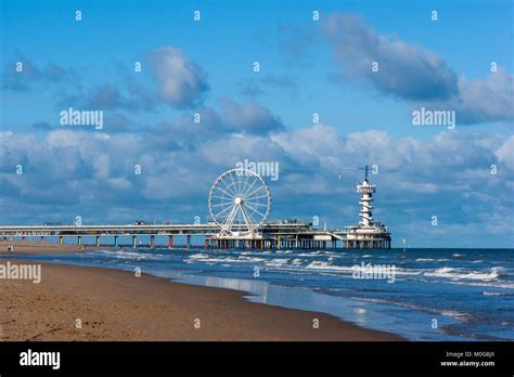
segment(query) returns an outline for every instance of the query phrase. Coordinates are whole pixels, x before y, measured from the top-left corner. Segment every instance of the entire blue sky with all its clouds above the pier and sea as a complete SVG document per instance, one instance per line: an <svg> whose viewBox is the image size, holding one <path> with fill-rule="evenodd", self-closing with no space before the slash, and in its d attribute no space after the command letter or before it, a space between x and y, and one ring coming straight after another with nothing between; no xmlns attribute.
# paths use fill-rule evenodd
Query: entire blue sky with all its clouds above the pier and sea
<svg viewBox="0 0 514 377"><path fill-rule="evenodd" d="M393 246L513 247L513 18L506 0L1 0L0 223L206 221L247 159L279 164L271 220L343 227L363 177L339 168L376 165Z"/></svg>

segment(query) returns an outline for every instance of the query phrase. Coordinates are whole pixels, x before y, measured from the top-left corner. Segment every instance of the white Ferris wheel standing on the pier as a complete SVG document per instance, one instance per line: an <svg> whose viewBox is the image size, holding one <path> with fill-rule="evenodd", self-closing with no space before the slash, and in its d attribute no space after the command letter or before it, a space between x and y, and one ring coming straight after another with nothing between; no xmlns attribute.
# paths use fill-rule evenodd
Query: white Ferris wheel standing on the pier
<svg viewBox="0 0 514 377"><path fill-rule="evenodd" d="M232 169L210 187L209 212L222 236L247 236L257 232L270 214L271 195L262 178L252 170Z"/></svg>

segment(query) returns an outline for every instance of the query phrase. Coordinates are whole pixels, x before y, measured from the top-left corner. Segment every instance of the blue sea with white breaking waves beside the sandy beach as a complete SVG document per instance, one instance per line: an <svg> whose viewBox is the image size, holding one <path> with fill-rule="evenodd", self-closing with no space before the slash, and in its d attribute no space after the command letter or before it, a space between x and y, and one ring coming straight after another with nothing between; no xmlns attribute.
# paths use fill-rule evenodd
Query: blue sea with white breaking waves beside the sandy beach
<svg viewBox="0 0 514 377"><path fill-rule="evenodd" d="M416 341L514 340L514 249L127 248L4 258L140 269Z"/></svg>

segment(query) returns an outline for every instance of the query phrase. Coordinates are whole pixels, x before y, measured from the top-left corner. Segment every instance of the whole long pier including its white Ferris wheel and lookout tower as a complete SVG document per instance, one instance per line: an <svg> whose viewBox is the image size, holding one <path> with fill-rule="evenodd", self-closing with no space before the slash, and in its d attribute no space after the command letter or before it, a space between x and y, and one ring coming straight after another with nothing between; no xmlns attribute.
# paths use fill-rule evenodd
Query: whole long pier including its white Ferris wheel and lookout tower
<svg viewBox="0 0 514 377"><path fill-rule="evenodd" d="M368 166L362 169L365 170L365 178L357 186L362 195L359 202L361 221L344 230L318 229L312 223L297 220L268 221L271 195L264 180L254 171L232 169L218 177L210 188L208 206L213 222L206 224L137 222L126 225L0 225L0 237L39 237L41 243L47 237L54 237L61 244L73 242L79 246L85 246L83 239L89 237L94 239L93 245L97 247L389 249L390 233L387 226L372 217L371 203L376 185L370 183ZM130 243L121 244L121 237L130 239ZM166 237L166 244L157 244L156 237ZM201 237L202 244L192 245L192 237ZM142 244L143 238L147 243ZM110 243L105 244L105 239L110 239Z"/></svg>

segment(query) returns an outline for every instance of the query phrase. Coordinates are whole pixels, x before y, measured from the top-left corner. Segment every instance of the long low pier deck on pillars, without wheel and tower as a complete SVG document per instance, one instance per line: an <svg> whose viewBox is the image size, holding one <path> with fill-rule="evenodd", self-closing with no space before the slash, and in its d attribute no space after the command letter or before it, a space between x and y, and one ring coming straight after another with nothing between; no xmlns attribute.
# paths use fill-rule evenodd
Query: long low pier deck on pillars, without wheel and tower
<svg viewBox="0 0 514 377"><path fill-rule="evenodd" d="M323 249L323 248L389 248L390 238L362 236L354 239L352 233L338 230L318 230L306 222L272 222L262 225L259 234L246 237L220 237L216 224L163 224L163 225L0 225L0 237L8 239L49 237L61 244L75 243L86 246L83 238L94 239L90 245L113 247L167 247L167 248L255 248L255 249ZM157 244L155 237L167 237L166 244ZM192 245L191 237L201 236L203 243ZM130 244L120 244L121 237ZM141 239L150 243L139 245ZM105 240L108 239L110 243ZM180 239L181 243L177 243Z"/></svg>

